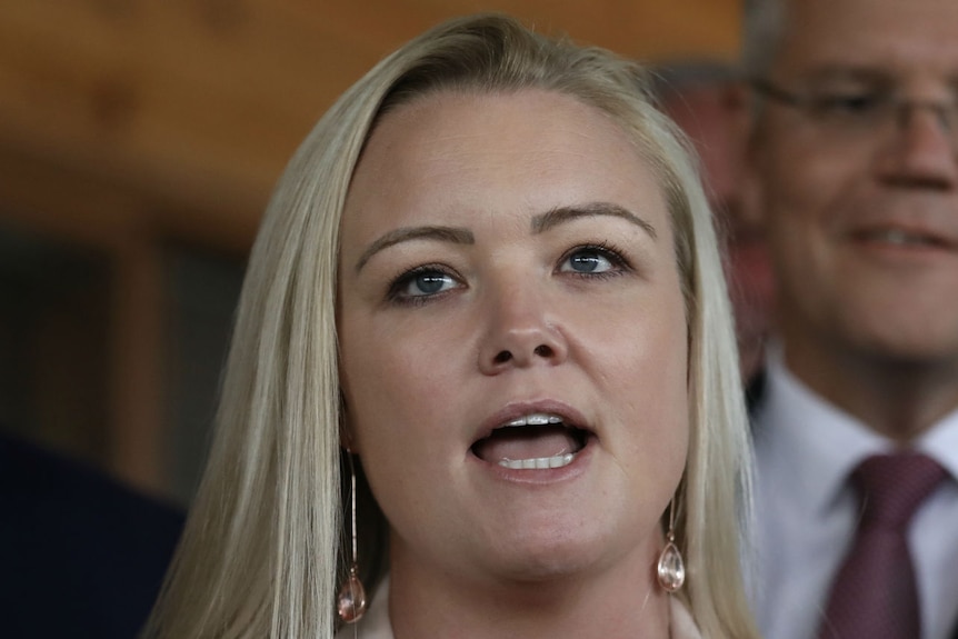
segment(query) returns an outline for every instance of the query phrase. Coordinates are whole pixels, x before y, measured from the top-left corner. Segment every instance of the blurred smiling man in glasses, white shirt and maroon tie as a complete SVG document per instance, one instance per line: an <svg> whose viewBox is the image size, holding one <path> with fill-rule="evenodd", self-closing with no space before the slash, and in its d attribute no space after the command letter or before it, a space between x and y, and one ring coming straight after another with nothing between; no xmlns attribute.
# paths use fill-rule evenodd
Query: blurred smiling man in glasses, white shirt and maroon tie
<svg viewBox="0 0 958 639"><path fill-rule="evenodd" d="M768 639L958 618L958 2L747 2L776 271L756 413Z"/></svg>

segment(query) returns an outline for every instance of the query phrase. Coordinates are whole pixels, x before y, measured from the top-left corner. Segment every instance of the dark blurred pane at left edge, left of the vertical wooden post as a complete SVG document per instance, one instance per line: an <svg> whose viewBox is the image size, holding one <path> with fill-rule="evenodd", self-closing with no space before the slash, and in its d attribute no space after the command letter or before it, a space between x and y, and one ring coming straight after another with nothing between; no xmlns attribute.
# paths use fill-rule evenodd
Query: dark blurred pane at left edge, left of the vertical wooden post
<svg viewBox="0 0 958 639"><path fill-rule="evenodd" d="M111 267L0 221L0 431L108 467Z"/></svg>

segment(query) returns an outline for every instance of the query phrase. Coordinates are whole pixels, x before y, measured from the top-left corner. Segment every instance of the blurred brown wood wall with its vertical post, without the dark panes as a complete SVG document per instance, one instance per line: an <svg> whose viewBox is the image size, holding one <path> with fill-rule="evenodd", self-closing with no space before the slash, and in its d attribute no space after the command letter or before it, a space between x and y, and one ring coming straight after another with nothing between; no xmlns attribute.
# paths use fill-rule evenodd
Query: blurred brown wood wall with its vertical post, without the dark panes
<svg viewBox="0 0 958 639"><path fill-rule="evenodd" d="M299 140L338 93L400 42L447 17L502 10L541 31L639 59L730 58L738 3L0 3L0 232L91 252L107 264L107 292L89 298L106 313L107 353L102 361L77 356L88 358L89 375L104 378L93 385L104 389L104 407L91 408L87 419L100 416L102 436L92 439L102 445L88 457L133 485L169 492L164 247L241 260ZM37 338L47 345L38 353L68 335ZM37 361L48 360L38 355ZM38 403L64 392L62 385L36 383Z"/></svg>

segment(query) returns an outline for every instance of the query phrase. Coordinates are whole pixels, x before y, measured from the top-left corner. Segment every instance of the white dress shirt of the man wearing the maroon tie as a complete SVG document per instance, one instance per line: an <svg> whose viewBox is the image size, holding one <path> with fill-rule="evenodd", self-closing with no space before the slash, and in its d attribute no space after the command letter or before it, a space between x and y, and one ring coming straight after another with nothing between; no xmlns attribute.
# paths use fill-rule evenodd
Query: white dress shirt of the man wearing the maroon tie
<svg viewBox="0 0 958 639"><path fill-rule="evenodd" d="M896 445L815 395L785 368L778 348L770 349L767 376L755 415L754 605L766 639L814 639L854 539L858 499L847 479L865 458ZM949 639L958 623L958 411L914 449L950 475L919 507L908 533L920 639Z"/></svg>

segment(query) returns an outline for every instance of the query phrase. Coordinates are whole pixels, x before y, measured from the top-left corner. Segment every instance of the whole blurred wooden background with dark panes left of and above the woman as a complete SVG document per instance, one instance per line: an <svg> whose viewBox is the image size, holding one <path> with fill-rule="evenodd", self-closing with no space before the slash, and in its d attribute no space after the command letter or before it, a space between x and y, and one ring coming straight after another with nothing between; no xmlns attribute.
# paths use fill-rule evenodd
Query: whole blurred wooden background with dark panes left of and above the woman
<svg viewBox="0 0 958 639"><path fill-rule="evenodd" d="M479 10L650 62L738 49L739 0L0 3L0 430L188 503L286 160L382 56Z"/></svg>

